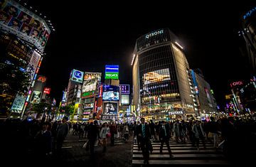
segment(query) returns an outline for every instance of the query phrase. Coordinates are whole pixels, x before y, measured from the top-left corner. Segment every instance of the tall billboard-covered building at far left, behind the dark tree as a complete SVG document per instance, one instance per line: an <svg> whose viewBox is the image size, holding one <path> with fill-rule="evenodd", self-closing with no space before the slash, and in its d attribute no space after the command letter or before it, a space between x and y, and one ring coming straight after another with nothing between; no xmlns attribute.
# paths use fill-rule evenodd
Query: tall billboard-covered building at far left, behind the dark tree
<svg viewBox="0 0 256 167"><path fill-rule="evenodd" d="M49 28L47 21L41 16L13 0L1 1L0 17L0 63L11 64L23 72L30 72L30 91L24 92L24 95L10 95L13 100L9 109L11 114L22 117L53 29Z"/></svg>

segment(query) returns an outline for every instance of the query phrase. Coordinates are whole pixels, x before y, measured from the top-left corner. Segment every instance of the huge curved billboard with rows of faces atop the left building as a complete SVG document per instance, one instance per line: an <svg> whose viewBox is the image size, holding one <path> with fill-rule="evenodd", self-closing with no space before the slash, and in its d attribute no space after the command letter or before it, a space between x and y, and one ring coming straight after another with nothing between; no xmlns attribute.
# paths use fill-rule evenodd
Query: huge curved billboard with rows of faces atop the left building
<svg viewBox="0 0 256 167"><path fill-rule="evenodd" d="M46 21L16 1L3 0L0 3L1 29L33 43L43 53L50 35Z"/></svg>

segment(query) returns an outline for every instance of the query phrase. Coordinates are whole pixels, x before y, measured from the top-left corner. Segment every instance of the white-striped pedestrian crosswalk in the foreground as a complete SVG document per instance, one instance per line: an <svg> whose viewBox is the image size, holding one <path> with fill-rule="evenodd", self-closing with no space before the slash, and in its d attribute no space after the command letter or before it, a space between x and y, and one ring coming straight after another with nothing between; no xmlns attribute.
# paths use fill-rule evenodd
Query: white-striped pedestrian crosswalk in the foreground
<svg viewBox="0 0 256 167"><path fill-rule="evenodd" d="M166 144L163 153L160 154L160 142L152 141L153 152L149 155L149 165L229 165L223 153L213 148L212 142L205 141L205 143L206 148L200 141L198 150L196 146L192 146L191 141L182 143L170 140L171 152L174 155L170 158ZM137 143L133 145L132 164L133 166L144 164L142 151L138 149Z"/></svg>

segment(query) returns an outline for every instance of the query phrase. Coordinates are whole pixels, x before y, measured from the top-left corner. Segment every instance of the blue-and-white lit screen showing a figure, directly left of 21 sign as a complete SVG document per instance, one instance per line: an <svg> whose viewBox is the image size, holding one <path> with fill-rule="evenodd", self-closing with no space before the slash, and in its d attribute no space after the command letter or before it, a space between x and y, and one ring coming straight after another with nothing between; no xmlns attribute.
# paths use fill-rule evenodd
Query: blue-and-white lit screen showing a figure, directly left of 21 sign
<svg viewBox="0 0 256 167"><path fill-rule="evenodd" d="M119 101L119 87L112 85L104 85L102 100Z"/></svg>

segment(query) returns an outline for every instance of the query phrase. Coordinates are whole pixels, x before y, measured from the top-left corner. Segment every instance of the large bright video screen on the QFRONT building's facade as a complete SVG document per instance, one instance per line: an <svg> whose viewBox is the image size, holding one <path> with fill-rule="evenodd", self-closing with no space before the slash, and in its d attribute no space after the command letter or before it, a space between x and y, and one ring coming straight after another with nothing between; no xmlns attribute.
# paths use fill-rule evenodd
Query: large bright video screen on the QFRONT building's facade
<svg viewBox="0 0 256 167"><path fill-rule="evenodd" d="M171 80L169 68L155 70L144 74L144 85L164 80Z"/></svg>

